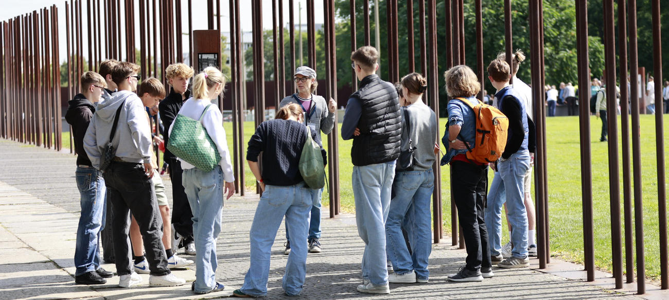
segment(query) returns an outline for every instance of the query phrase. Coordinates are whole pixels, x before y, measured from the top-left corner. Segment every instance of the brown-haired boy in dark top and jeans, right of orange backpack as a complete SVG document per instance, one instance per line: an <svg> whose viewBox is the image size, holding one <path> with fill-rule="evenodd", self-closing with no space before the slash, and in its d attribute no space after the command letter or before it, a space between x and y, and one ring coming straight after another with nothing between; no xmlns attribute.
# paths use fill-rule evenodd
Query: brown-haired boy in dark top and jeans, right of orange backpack
<svg viewBox="0 0 669 300"><path fill-rule="evenodd" d="M490 190L485 208L485 223L490 234L490 256L502 256L501 210L504 203L507 218L512 226L512 253L497 264L500 268L528 267L528 221L524 206L524 177L530 168L529 125L522 96L509 85L510 66L499 58L488 65L488 79L497 92L501 112L508 117L508 139L502 156L491 163L498 170Z"/></svg>

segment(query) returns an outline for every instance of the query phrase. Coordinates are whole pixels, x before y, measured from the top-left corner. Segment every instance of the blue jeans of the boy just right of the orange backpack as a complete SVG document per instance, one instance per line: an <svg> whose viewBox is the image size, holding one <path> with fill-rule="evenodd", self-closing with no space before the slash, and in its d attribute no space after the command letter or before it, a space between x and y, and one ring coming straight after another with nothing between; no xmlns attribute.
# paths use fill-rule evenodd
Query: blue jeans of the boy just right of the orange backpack
<svg viewBox="0 0 669 300"><path fill-rule="evenodd" d="M511 224L512 255L527 258L527 212L524 205L524 176L530 167L527 150L512 154L507 161L497 163L498 172L492 179L485 209L486 228L490 239L490 255L502 250L502 205L506 202L506 215Z"/></svg>

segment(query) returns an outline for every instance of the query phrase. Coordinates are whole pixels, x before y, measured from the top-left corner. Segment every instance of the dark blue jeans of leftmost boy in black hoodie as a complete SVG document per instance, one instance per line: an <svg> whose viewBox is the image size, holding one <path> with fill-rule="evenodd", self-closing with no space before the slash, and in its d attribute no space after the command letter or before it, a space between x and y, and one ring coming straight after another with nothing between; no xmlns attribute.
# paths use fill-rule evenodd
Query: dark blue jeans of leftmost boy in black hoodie
<svg viewBox="0 0 669 300"><path fill-rule="evenodd" d="M75 173L81 195L82 212L77 227L77 243L74 248L75 276L96 271L100 266L100 244L98 236L104 228L106 216L106 187L102 172L94 167L77 167Z"/></svg>

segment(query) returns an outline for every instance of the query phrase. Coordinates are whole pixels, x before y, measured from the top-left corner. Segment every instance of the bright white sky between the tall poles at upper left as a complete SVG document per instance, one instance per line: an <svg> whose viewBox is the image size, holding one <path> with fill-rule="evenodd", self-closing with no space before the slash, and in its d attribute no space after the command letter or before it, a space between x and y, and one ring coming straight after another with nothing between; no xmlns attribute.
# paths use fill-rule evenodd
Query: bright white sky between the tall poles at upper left
<svg viewBox="0 0 669 300"><path fill-rule="evenodd" d="M104 0L100 0L102 3ZM140 0L135 0L135 16L139 17L138 6ZM159 0L160 1L160 0ZM5 1L3 1L5 2ZM65 43L65 2L64 0L23 0L23 1L11 1L11 5L3 5L0 9L0 21L7 21L17 15L23 15L25 13L31 13L32 11L39 11L43 7L50 7L56 5L58 7L58 26L59 26L59 35L61 36L62 42L60 43L60 60L66 60L66 43ZM86 21L86 3L87 0L82 1L82 18L84 22ZM197 29L207 29L207 0L193 0L193 30ZM284 21L288 23L288 1L284 2ZM123 3L123 1L121 1ZM182 19L183 19L183 31L188 30L188 9L187 9L187 0L182 0ZM215 3L215 1L214 1ZM252 29L252 17L251 17L251 1L250 0L241 0L240 1L240 13L242 15L242 31L251 31ZM278 1L277 1L278 3ZM306 23L306 0L294 0L294 9L295 9L295 23L298 23L298 3L302 3L302 23ZM316 11L315 23L323 23L323 14L319 13L323 11L322 1L314 1L314 10ZM263 27L265 29L272 29L272 0L263 0ZM214 9L215 11L215 9ZM278 11L278 9L277 9ZM137 20L138 21L138 20ZM215 21L214 21L215 23ZM82 26L84 33L84 39L86 38L86 23ZM227 0L221 0L221 31L229 31L229 2ZM139 33L138 26L135 26L137 29L136 32L136 48L139 48ZM123 28L121 29L124 30ZM187 49L188 45L188 36L182 35L184 49ZM86 40L82 43L84 45L84 54L88 53L88 42ZM104 41L103 41L104 44ZM104 46L103 46L104 47ZM104 51L103 51L104 52Z"/></svg>

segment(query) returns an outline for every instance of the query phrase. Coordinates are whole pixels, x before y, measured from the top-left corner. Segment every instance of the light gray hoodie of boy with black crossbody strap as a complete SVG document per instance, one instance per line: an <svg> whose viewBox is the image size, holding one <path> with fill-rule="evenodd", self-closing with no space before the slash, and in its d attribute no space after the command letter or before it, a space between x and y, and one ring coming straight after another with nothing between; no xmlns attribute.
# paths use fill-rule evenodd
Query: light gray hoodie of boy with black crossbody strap
<svg viewBox="0 0 669 300"><path fill-rule="evenodd" d="M100 157L109 141L116 109L121 104L124 108L121 108L112 139L116 157L132 163L151 163L151 128L144 104L134 92L122 90L98 104L84 135L84 149L96 169L100 167Z"/></svg>

